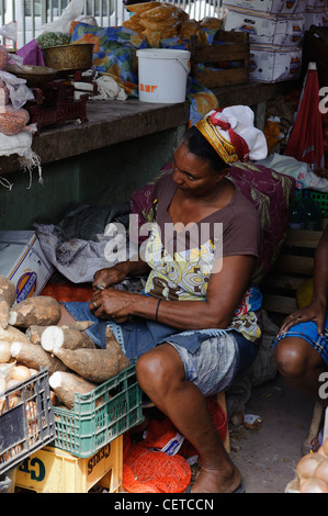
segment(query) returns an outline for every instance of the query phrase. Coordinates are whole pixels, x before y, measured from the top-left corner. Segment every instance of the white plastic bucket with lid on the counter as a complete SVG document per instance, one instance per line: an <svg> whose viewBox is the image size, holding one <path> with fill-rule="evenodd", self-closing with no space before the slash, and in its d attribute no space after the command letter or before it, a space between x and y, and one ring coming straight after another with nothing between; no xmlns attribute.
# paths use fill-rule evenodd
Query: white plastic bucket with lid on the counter
<svg viewBox="0 0 328 516"><path fill-rule="evenodd" d="M189 51L143 48L137 51L137 57L140 101L166 104L185 101Z"/></svg>

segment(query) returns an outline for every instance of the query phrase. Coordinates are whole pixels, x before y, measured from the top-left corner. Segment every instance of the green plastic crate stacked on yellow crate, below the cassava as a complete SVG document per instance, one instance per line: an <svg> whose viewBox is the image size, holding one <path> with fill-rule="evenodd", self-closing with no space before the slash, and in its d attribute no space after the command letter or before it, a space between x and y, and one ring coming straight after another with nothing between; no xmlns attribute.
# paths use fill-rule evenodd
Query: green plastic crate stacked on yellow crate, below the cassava
<svg viewBox="0 0 328 516"><path fill-rule="evenodd" d="M87 394L75 394L71 410L53 407L49 446L22 457L15 485L37 493L118 492L123 475L123 434L143 419L135 367Z"/></svg>

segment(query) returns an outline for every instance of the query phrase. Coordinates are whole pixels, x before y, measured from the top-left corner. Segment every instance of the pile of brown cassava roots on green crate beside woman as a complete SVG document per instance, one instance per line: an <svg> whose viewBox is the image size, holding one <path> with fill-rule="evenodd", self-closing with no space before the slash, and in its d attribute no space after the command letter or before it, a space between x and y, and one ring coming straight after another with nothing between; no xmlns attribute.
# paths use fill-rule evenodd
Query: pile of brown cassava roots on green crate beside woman
<svg viewBox="0 0 328 516"><path fill-rule="evenodd" d="M0 276L0 415L10 408L4 407L4 391L41 367L48 369L54 404L72 408L75 392L90 392L129 366L109 327L106 348L100 349L84 334L93 323L58 325L61 312L55 299L36 295L18 304L15 299L15 285ZM13 394L12 403L19 403L19 390Z"/></svg>

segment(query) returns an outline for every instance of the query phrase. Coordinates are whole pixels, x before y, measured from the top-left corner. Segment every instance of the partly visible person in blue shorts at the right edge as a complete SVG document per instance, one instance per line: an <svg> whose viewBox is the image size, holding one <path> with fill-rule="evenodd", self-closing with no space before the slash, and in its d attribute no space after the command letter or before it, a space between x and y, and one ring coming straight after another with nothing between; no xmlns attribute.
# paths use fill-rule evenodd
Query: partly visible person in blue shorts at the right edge
<svg viewBox="0 0 328 516"><path fill-rule="evenodd" d="M328 226L315 253L313 298L308 306L286 317L275 343L281 375L301 393L328 405L320 396L320 374L328 371Z"/></svg>

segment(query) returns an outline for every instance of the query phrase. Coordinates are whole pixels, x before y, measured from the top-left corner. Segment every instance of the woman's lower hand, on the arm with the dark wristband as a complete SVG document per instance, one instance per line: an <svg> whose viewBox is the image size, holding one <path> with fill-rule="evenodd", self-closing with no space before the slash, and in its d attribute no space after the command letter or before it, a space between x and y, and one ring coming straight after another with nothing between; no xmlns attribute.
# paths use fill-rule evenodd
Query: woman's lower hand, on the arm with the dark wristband
<svg viewBox="0 0 328 516"><path fill-rule="evenodd" d="M99 318L111 317L122 323L131 315L134 295L114 288L97 290L92 295L89 309Z"/></svg>

